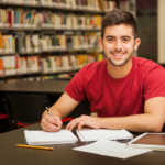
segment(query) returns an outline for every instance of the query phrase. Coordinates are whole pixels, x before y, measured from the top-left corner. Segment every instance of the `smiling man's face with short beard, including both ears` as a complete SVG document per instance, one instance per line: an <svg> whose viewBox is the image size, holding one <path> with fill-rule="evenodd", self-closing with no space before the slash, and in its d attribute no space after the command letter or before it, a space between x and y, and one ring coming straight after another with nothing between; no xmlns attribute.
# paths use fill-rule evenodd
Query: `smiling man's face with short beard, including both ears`
<svg viewBox="0 0 165 165"><path fill-rule="evenodd" d="M133 51L138 50L141 41L140 38L134 41L132 26L120 24L107 26L103 41L100 40L99 43L110 64L120 67L131 58Z"/></svg>

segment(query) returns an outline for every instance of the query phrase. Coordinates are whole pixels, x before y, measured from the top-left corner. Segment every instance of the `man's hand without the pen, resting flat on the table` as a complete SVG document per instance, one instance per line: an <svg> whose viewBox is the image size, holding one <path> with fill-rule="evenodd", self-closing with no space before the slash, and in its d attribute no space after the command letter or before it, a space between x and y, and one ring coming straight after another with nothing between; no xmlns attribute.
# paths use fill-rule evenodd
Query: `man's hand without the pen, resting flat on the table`
<svg viewBox="0 0 165 165"><path fill-rule="evenodd" d="M94 129L100 129L101 128L101 118L81 116L79 118L72 120L67 124L66 130L72 131L74 128L77 128L77 131L79 131L85 125L94 128Z"/></svg>

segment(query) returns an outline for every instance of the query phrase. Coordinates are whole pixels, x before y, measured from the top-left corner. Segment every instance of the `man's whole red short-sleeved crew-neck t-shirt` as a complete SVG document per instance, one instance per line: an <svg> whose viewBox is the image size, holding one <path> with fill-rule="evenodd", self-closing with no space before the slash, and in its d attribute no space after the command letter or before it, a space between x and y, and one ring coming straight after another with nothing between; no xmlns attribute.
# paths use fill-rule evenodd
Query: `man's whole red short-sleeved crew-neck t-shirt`
<svg viewBox="0 0 165 165"><path fill-rule="evenodd" d="M152 61L132 58L133 67L123 78L112 78L103 59L86 65L65 90L77 101L87 97L99 117L143 113L147 99L165 97L165 70Z"/></svg>

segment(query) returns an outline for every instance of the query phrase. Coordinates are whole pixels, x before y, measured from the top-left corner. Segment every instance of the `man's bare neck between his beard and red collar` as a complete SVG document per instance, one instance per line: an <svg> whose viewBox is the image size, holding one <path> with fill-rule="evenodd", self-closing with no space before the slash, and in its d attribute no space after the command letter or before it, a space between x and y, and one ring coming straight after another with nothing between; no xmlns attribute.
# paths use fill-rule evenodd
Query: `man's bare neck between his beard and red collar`
<svg viewBox="0 0 165 165"><path fill-rule="evenodd" d="M122 77L125 77L132 69L132 65L133 65L133 62L132 62L132 57L129 59L129 62L121 66L121 67L117 67L117 66L113 66L109 61L107 61L108 65L107 65L107 69L108 69L108 73L111 77L113 78L122 78Z"/></svg>

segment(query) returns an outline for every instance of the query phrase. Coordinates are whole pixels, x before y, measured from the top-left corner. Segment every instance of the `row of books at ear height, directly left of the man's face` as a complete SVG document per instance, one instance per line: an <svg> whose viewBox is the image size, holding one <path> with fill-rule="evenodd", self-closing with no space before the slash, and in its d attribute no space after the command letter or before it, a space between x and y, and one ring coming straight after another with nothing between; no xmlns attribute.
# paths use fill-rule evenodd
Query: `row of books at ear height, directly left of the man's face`
<svg viewBox="0 0 165 165"><path fill-rule="evenodd" d="M53 51L79 51L98 48L98 33L86 35L41 35L40 34L4 34L0 33L0 54L42 53Z"/></svg>

